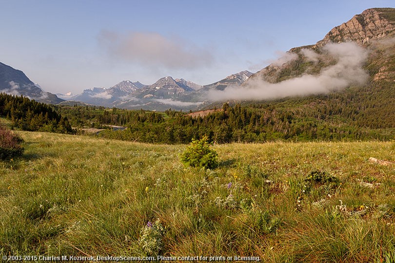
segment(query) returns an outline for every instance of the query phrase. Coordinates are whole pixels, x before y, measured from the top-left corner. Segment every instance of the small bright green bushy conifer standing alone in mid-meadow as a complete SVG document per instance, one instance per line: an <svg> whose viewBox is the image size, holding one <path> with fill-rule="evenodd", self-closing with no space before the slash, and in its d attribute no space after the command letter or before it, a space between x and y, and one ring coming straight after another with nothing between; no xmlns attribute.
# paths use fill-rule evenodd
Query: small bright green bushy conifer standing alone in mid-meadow
<svg viewBox="0 0 395 263"><path fill-rule="evenodd" d="M200 140L192 139L191 144L180 154L181 162L186 166L215 168L218 164L218 153L210 146L207 136Z"/></svg>

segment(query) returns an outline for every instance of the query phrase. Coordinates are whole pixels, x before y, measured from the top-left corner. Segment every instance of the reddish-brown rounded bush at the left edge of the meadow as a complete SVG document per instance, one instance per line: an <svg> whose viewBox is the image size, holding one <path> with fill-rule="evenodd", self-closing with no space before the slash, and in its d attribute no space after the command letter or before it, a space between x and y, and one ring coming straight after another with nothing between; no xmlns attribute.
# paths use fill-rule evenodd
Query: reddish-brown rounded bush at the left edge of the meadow
<svg viewBox="0 0 395 263"><path fill-rule="evenodd" d="M0 125L0 159L5 160L22 155L23 139L18 134Z"/></svg>

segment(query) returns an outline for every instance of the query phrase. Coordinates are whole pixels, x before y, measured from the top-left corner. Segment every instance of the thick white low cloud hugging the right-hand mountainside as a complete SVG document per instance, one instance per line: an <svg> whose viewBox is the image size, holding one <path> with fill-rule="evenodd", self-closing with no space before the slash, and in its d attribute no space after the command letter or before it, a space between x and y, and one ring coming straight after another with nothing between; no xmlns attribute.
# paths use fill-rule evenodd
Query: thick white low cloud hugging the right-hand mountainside
<svg viewBox="0 0 395 263"><path fill-rule="evenodd" d="M301 51L309 61L317 62L319 54L312 50ZM269 83L262 79L249 79L246 86L230 86L223 91L210 91L208 99L220 100L264 100L286 96L302 96L326 94L342 90L351 84L362 85L368 74L362 69L368 52L355 43L327 44L323 52L334 57L337 63L321 70L319 75L305 74L279 83ZM296 54L288 54L280 58L277 64L296 59ZM277 65L275 64L275 65Z"/></svg>

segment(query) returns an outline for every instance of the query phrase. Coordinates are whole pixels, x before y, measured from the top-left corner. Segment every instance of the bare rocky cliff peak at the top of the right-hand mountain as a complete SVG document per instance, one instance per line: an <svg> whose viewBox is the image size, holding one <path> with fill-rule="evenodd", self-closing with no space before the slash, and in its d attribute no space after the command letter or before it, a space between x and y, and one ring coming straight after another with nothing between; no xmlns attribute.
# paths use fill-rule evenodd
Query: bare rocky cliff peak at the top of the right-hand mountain
<svg viewBox="0 0 395 263"><path fill-rule="evenodd" d="M371 40L395 34L395 8L371 8L355 15L349 21L334 27L315 47L329 42L354 41L366 44Z"/></svg>

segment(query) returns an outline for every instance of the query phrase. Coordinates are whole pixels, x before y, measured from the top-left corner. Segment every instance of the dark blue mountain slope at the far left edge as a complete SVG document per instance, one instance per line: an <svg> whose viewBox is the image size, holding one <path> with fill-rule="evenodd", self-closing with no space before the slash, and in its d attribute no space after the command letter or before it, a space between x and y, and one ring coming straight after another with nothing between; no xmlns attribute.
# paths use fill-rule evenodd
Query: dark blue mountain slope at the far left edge
<svg viewBox="0 0 395 263"><path fill-rule="evenodd" d="M0 62L0 92L24 95L39 102L58 104L64 101L57 95L45 92L34 84L22 71Z"/></svg>

